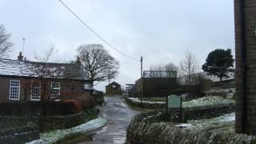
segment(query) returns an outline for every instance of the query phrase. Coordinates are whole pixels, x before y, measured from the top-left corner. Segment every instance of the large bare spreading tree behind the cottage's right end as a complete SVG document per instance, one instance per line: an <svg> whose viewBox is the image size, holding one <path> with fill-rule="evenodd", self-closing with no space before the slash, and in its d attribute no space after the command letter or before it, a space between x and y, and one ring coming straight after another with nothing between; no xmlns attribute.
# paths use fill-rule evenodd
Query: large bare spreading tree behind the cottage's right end
<svg viewBox="0 0 256 144"><path fill-rule="evenodd" d="M92 86L94 82L104 82L118 74L119 62L100 44L78 46L78 57Z"/></svg>

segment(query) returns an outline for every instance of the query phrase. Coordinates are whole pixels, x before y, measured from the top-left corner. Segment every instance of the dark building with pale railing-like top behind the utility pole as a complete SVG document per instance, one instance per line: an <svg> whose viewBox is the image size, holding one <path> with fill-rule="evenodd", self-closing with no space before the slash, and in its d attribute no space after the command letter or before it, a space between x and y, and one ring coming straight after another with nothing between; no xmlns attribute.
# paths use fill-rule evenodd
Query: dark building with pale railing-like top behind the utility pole
<svg viewBox="0 0 256 144"><path fill-rule="evenodd" d="M177 72L145 70L135 86L137 96L143 90L143 97L166 97L178 88Z"/></svg>

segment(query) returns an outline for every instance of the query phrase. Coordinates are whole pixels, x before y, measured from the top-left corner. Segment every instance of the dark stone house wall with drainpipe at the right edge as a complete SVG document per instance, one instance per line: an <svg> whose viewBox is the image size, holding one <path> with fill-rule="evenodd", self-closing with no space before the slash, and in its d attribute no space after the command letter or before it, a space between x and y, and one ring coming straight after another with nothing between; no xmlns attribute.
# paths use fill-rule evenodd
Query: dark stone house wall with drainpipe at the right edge
<svg viewBox="0 0 256 144"><path fill-rule="evenodd" d="M243 2L243 5L241 2ZM244 12L243 17L241 16L241 11ZM256 1L234 0L234 22L236 47L236 130L238 133L256 134ZM242 26L242 22L244 22L244 26ZM245 39L243 39L243 36ZM245 52L245 59L242 59L242 50ZM242 93L243 70L246 70L246 95ZM246 102L244 106L243 101Z"/></svg>

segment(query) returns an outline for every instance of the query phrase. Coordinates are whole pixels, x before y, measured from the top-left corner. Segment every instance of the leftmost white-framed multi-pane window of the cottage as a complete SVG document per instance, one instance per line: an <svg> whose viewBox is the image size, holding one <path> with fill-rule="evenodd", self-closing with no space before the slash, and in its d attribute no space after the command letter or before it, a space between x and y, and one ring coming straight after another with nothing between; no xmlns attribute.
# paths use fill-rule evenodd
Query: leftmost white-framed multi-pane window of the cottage
<svg viewBox="0 0 256 144"><path fill-rule="evenodd" d="M20 81L10 80L10 100L19 100L20 95Z"/></svg>

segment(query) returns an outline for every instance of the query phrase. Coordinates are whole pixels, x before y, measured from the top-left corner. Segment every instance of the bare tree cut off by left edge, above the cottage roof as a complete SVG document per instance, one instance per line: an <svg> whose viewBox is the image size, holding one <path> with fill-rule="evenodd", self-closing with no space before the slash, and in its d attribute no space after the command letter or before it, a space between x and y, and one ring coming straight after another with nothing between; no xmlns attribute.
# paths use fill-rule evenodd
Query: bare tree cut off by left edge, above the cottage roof
<svg viewBox="0 0 256 144"><path fill-rule="evenodd" d="M0 25L0 58L6 58L12 46L13 43L10 42L10 34L6 33L5 27Z"/></svg>

